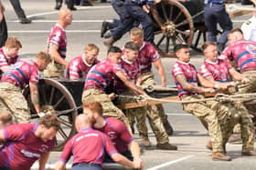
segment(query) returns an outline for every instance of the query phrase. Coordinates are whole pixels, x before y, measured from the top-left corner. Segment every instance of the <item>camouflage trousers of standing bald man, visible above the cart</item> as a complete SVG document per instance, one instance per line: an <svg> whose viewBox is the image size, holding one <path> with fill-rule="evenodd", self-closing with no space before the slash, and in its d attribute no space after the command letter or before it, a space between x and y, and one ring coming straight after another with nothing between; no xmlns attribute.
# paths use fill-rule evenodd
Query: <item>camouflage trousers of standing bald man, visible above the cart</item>
<svg viewBox="0 0 256 170"><path fill-rule="evenodd" d="M45 78L63 78L65 67L56 62L51 62L44 70L43 75Z"/></svg>

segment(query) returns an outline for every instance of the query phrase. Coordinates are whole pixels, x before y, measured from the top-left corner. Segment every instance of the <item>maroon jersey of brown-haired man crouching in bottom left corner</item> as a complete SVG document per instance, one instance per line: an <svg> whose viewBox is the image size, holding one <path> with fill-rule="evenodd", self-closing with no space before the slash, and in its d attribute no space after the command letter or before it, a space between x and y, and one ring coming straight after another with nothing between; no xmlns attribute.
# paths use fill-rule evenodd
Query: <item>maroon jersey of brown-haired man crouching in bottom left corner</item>
<svg viewBox="0 0 256 170"><path fill-rule="evenodd" d="M56 138L43 142L35 135L37 126L38 124L15 124L5 127L5 145L0 149L0 167L29 170L41 155L53 149Z"/></svg>

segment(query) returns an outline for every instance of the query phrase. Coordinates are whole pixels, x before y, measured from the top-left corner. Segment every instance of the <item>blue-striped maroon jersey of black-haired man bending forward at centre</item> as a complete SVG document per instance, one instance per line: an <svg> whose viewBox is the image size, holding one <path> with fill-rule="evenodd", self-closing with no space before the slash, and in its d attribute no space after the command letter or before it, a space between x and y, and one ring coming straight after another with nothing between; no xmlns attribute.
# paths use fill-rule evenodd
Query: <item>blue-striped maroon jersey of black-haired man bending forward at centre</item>
<svg viewBox="0 0 256 170"><path fill-rule="evenodd" d="M112 85L116 72L122 72L121 66L113 63L108 58L92 66L85 80L84 90L99 88L105 91L109 85Z"/></svg>

